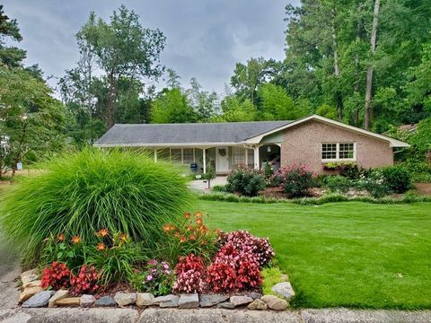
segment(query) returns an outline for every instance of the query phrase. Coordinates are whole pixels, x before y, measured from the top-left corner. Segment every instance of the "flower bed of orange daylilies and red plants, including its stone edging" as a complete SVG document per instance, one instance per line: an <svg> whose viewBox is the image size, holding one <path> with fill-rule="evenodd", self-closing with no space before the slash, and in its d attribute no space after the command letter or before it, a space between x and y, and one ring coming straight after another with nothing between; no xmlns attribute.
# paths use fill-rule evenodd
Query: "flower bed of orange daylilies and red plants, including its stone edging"
<svg viewBox="0 0 431 323"><path fill-rule="evenodd" d="M107 229L94 233L92 245L79 236L50 237L42 250L45 265L22 274L22 307L286 310L295 295L290 283L280 289L290 289L287 295L261 293L261 270L275 256L268 239L248 231L209 231L203 217L186 213L183 221L164 224L164 249L152 255L159 258L145 259L148 250ZM173 258L161 258L167 255Z"/></svg>

